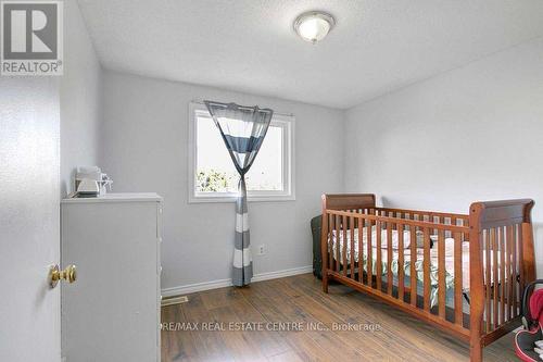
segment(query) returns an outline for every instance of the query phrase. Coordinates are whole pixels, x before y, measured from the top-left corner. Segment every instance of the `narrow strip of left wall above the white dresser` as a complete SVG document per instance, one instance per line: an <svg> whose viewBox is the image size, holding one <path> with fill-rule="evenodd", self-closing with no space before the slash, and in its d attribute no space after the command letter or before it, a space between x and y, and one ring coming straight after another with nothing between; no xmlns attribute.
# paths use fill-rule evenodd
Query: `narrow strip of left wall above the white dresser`
<svg viewBox="0 0 543 362"><path fill-rule="evenodd" d="M101 72L77 1L64 1L64 75L60 90L62 196L73 191L74 167L97 164Z"/></svg>

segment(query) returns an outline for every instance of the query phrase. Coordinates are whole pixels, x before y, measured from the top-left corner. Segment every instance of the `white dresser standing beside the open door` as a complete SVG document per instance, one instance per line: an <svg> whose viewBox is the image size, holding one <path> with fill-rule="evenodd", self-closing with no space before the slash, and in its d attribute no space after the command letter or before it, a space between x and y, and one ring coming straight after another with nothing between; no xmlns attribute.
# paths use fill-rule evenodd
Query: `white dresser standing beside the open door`
<svg viewBox="0 0 543 362"><path fill-rule="evenodd" d="M110 194L61 205L62 355L66 362L160 361L162 198Z"/></svg>

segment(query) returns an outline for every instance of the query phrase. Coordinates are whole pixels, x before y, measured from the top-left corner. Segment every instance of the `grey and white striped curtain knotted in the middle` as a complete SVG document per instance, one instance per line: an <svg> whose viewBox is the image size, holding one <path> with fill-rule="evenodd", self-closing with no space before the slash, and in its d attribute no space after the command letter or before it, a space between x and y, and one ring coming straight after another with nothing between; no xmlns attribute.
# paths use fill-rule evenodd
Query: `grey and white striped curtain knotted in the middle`
<svg viewBox="0 0 543 362"><path fill-rule="evenodd" d="M236 201L236 241L233 249L235 286L244 286L253 277L247 208L245 174L264 141L274 111L236 103L204 101L215 122L233 165L240 175ZM279 154L277 157L280 157Z"/></svg>

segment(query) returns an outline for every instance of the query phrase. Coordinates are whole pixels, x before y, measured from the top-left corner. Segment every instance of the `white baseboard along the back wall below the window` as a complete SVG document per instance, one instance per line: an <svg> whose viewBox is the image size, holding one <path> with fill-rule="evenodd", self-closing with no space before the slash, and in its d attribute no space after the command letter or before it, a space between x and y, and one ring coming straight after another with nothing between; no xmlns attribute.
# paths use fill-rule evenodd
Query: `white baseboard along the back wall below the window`
<svg viewBox="0 0 543 362"><path fill-rule="evenodd" d="M313 265L293 267L293 269L287 269L283 271L255 274L255 275L253 275L253 278L251 279L251 282L255 283L255 282L263 282L263 280L269 280L269 279L277 279L277 278L283 278L286 276L305 274L305 273L311 273L311 272L313 272ZM172 287L172 288L162 289L162 298L182 296L182 295L188 295L191 292L211 290L211 289L217 289L217 288L224 288L224 287L231 287L231 286L232 286L232 279L219 279L219 280L189 284L189 285L184 285L184 286L179 286L179 287Z"/></svg>

